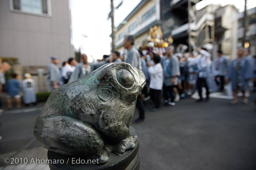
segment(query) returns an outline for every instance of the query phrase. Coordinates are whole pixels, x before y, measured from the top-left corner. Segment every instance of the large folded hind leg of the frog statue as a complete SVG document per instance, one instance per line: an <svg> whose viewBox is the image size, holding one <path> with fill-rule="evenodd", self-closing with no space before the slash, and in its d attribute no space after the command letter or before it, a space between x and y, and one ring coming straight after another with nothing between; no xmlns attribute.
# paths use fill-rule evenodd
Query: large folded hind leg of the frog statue
<svg viewBox="0 0 256 170"><path fill-rule="evenodd" d="M101 163L108 161L99 133L79 119L70 116L38 119L34 134L48 150L64 155L99 157Z"/></svg>

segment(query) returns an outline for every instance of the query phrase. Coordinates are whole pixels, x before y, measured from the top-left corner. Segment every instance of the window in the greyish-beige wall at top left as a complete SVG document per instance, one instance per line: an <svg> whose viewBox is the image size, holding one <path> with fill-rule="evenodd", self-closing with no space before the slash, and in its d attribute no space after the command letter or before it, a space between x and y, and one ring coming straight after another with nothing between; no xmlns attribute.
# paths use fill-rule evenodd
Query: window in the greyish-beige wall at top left
<svg viewBox="0 0 256 170"><path fill-rule="evenodd" d="M12 9L31 14L49 14L49 0L11 0Z"/></svg>

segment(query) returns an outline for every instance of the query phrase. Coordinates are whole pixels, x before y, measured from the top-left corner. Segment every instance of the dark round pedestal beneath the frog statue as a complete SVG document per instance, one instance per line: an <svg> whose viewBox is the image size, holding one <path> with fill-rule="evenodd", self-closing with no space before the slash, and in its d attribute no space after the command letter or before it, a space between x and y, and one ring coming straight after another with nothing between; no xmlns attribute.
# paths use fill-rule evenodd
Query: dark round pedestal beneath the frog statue
<svg viewBox="0 0 256 170"><path fill-rule="evenodd" d="M138 136L134 127L130 127L130 133L131 135ZM121 156L111 153L108 162L102 165L87 164L87 159L83 157L73 158L72 156L63 156L52 151L48 151L48 159L52 161L52 164L51 162L49 163L51 170L139 170L139 140L136 142L136 147L133 150L125 151ZM54 160L59 160L59 162L54 163Z"/></svg>

